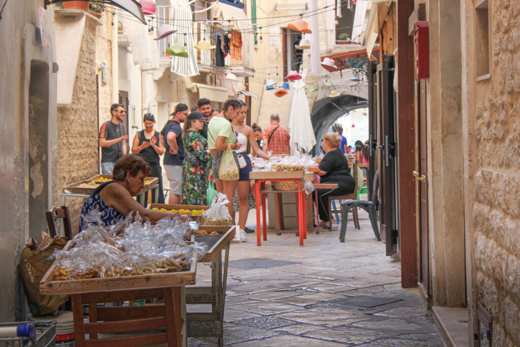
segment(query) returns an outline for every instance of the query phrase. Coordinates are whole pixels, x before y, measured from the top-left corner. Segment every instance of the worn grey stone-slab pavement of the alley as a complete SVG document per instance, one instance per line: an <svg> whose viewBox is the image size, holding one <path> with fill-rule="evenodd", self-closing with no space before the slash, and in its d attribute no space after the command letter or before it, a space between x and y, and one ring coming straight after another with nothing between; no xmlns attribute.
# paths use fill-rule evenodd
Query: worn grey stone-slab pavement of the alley
<svg viewBox="0 0 520 347"><path fill-rule="evenodd" d="M339 226L308 233L305 246L293 233L256 246L233 243L230 251L224 344L230 346L444 346L415 289L400 286L400 262L385 256L368 214L352 219L345 243ZM254 211L248 226L256 229ZM209 264L197 267L197 284L210 281ZM197 305L188 305L190 307ZM188 346L216 346L216 339L188 339Z"/></svg>

